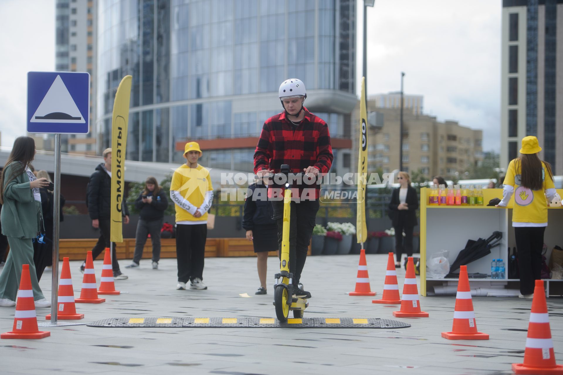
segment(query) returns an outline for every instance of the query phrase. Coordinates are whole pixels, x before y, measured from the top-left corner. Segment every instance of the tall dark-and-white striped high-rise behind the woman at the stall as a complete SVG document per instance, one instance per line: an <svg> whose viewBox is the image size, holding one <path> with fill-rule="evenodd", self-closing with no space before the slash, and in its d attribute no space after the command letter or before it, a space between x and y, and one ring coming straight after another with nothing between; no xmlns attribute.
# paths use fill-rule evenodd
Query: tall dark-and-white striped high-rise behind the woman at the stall
<svg viewBox="0 0 563 375"><path fill-rule="evenodd" d="M501 166L519 156L524 136L535 135L540 158L561 175L563 2L503 0L502 6Z"/></svg>

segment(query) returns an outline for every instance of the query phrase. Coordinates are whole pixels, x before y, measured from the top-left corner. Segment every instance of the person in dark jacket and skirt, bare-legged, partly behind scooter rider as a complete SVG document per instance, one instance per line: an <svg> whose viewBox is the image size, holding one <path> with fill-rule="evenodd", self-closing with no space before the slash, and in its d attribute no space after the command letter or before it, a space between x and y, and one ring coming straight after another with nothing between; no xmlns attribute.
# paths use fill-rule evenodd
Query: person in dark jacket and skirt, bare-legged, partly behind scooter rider
<svg viewBox="0 0 563 375"><path fill-rule="evenodd" d="M272 219L274 209L268 200L267 187L263 181L259 180L248 188L248 196L244 200L243 228L246 230L247 240L252 241L254 253L258 257L260 288L255 294L267 294L268 252L278 249L278 227Z"/></svg>

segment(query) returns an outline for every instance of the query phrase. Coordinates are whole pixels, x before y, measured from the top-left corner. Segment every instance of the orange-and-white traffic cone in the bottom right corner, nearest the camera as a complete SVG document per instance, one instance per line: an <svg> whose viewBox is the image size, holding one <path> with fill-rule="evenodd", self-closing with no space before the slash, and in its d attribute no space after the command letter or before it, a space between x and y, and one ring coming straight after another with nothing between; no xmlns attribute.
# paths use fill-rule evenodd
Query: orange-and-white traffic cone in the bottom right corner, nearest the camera
<svg viewBox="0 0 563 375"><path fill-rule="evenodd" d="M563 374L563 365L555 363L542 280L535 280L524 363L513 363L512 371L516 374Z"/></svg>

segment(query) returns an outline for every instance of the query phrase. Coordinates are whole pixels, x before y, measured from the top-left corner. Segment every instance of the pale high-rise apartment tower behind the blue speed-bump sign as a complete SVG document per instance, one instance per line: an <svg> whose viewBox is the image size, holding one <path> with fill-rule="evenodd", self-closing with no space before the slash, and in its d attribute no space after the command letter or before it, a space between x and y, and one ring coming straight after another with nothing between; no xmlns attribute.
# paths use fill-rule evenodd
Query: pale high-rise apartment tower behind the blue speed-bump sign
<svg viewBox="0 0 563 375"><path fill-rule="evenodd" d="M90 73L90 133L61 136L61 151L96 155L96 1L56 0L55 69ZM43 147L54 147L53 136ZM52 151L48 149L47 151Z"/></svg>

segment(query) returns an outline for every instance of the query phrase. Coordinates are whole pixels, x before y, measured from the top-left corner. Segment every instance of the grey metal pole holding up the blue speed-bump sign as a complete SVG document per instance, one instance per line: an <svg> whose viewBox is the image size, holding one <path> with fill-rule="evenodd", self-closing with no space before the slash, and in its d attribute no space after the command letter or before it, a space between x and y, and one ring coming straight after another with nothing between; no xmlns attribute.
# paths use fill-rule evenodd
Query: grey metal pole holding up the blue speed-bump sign
<svg viewBox="0 0 563 375"><path fill-rule="evenodd" d="M59 224L61 196L61 135L55 134L55 191L53 192L53 270L51 281L51 324L57 324L59 294Z"/></svg>

